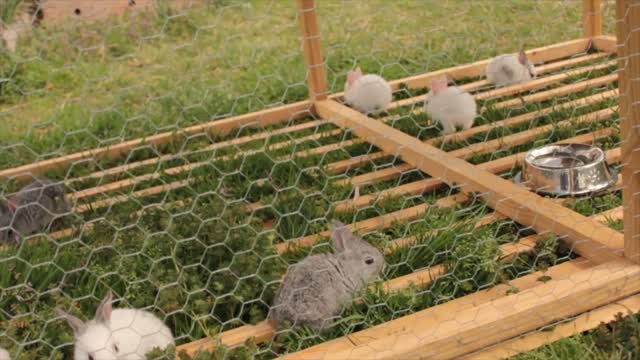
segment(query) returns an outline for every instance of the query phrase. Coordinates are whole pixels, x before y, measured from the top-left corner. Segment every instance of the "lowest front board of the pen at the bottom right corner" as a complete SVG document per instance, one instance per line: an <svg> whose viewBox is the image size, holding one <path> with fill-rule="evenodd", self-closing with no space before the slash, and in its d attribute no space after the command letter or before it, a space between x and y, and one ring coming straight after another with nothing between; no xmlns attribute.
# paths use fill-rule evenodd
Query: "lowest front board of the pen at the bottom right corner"
<svg viewBox="0 0 640 360"><path fill-rule="evenodd" d="M534 350L545 344L595 329L602 323L616 319L619 313L640 312L640 295L633 295L615 303L593 309L575 318L562 320L545 330L535 331L496 346L461 357L464 360L503 359Z"/></svg>

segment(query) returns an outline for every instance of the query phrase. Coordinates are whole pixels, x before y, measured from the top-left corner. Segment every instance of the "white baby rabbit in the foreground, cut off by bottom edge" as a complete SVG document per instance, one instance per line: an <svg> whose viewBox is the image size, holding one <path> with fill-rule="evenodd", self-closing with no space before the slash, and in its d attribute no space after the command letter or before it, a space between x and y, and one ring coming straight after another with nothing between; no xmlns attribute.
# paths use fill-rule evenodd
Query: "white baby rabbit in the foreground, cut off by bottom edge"
<svg viewBox="0 0 640 360"><path fill-rule="evenodd" d="M143 310L112 310L112 299L109 291L95 318L86 323L55 309L75 333L75 360L146 359L151 350L175 344L171 330L160 319Z"/></svg>

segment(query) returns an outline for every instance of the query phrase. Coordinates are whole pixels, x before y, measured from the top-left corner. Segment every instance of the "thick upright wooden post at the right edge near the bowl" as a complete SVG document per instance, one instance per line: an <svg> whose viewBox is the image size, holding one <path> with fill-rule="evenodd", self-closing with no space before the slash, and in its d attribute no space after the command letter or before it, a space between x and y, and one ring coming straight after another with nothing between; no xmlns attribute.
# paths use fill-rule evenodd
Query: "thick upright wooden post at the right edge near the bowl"
<svg viewBox="0 0 640 360"><path fill-rule="evenodd" d="M640 263L640 1L618 0L616 19L624 254Z"/></svg>

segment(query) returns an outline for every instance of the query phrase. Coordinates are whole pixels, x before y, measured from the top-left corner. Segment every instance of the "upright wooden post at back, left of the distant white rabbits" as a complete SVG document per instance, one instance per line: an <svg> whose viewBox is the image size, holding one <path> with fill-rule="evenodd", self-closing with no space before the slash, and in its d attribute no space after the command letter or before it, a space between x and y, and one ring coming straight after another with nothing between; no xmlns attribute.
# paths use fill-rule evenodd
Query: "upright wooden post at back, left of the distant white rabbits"
<svg viewBox="0 0 640 360"><path fill-rule="evenodd" d="M312 101L327 98L327 76L320 48L320 30L316 16L315 0L297 0L298 19L302 32L304 63L307 67L309 98Z"/></svg>

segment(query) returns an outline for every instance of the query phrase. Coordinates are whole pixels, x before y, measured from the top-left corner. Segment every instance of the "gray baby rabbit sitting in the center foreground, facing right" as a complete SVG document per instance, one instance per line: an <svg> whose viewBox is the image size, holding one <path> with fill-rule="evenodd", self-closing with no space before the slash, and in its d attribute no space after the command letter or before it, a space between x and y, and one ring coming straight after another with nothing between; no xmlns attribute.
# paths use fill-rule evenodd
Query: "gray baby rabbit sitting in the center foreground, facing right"
<svg viewBox="0 0 640 360"><path fill-rule="evenodd" d="M323 330L382 271L384 257L378 249L341 222L332 225L336 252L309 256L287 271L269 314L276 325L289 321Z"/></svg>

